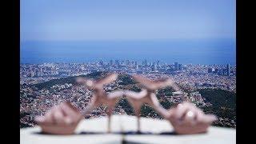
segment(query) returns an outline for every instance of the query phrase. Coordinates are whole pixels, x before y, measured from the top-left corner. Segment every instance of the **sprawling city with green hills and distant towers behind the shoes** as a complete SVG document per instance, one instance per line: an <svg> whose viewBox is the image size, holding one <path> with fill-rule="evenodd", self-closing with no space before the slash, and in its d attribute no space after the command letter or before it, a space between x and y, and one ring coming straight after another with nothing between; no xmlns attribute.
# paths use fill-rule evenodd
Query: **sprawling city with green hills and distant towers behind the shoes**
<svg viewBox="0 0 256 144"><path fill-rule="evenodd" d="M75 106L82 110L90 102L92 92L86 89L85 86L75 85L70 79L81 75L90 76L90 78L100 78L106 73L117 73L121 75L117 81L104 87L106 92L127 89L140 90L140 86L130 80L130 75L132 74L142 74L151 79L173 78L178 86L182 87L186 96L182 98L178 95L178 92L170 88L157 90L156 95L165 108L169 108L173 104L182 101L194 102L206 113L218 113L218 122L215 122L214 125L236 127L235 65L166 63L160 62L159 60L153 62L143 60L142 62L138 62L130 59L99 60L97 62L84 63L51 62L21 64L20 126L35 126L33 122L34 116L45 114L50 107L58 105L58 103L63 101L73 102ZM223 94L225 98L230 97L233 99L226 98L224 104L219 104L218 106L213 101L213 98L210 98L211 94L216 101L218 100L217 96L222 97ZM230 106L230 101L234 101L234 106ZM223 103L223 100L220 102ZM114 114L132 114L131 108L127 105L125 98L122 98L115 107ZM142 116L161 118L149 106L143 106L142 109ZM226 114L230 114L230 116L226 116ZM106 107L101 106L86 118L101 117L104 115L106 115Z"/></svg>

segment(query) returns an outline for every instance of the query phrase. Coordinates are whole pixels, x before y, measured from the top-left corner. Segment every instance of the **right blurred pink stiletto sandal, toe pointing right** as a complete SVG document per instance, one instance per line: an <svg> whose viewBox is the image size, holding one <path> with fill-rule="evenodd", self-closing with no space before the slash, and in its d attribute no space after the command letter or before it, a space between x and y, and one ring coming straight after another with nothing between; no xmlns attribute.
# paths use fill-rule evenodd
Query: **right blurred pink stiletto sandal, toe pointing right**
<svg viewBox="0 0 256 144"><path fill-rule="evenodd" d="M135 81L140 82L142 86L146 87L146 90L142 90L139 93L132 91L126 91L125 93L131 105L134 106L135 114L138 117L138 131L140 130L138 114L143 103L152 106L163 118L166 118L174 126L177 134L204 133L211 123L217 120L216 116L213 114L204 114L202 110L190 102L182 102L178 106L170 108L170 110L165 110L158 102L154 92L166 86L172 86L174 90L180 90L172 79L151 81L149 78L144 78L140 75L134 75L133 78Z"/></svg>

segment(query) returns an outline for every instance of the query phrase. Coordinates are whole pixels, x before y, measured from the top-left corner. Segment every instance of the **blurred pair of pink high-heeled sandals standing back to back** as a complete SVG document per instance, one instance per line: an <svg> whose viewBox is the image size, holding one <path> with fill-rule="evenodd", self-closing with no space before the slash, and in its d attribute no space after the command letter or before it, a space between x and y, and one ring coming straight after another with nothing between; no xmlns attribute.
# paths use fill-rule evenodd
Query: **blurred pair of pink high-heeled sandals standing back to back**
<svg viewBox="0 0 256 144"><path fill-rule="evenodd" d="M174 90L180 90L171 78L164 80L152 81L141 75L133 75L135 81L139 82L144 89L140 92L130 90L114 91L106 93L103 86L114 82L118 78L118 74L108 74L105 78L94 81L87 78L78 78L78 84L85 85L86 88L93 90L93 98L82 112L72 106L70 102L62 102L58 106L54 106L44 116L36 117L35 122L42 127L42 132L47 134L74 134L78 122L80 122L86 114L90 114L92 110L98 106L107 106L108 129L110 132L110 116L114 110L114 106L122 96L126 96L128 102L134 108L135 115L138 119L138 132L140 132L140 109L143 104L152 106L163 118L168 120L173 126L177 134L197 134L206 132L207 128L217 118L211 114L204 114L202 110L189 102L179 104L170 110L166 110L158 102L155 96L155 90L171 86Z"/></svg>

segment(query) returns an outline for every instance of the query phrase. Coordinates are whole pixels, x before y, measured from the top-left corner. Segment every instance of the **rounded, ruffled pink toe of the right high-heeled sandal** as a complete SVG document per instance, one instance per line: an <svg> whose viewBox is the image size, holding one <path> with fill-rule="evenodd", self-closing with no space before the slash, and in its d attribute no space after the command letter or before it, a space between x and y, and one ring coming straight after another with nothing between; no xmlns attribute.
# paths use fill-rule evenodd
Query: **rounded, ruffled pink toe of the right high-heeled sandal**
<svg viewBox="0 0 256 144"><path fill-rule="evenodd" d="M171 108L168 120L174 126L177 134L198 134L207 131L207 128L217 118L213 114L204 114L202 110L190 102L183 102Z"/></svg>

